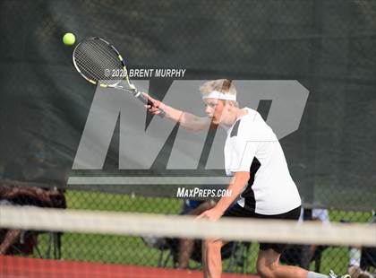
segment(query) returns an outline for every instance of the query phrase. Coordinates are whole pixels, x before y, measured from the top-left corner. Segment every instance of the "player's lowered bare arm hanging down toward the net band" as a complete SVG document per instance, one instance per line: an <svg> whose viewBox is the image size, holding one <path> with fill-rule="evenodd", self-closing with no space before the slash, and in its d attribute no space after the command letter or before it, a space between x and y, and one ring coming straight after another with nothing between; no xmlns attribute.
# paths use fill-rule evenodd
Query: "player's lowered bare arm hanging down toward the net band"
<svg viewBox="0 0 376 278"><path fill-rule="evenodd" d="M229 196L221 197L215 207L201 213L198 218L207 218L213 221L218 220L223 213L226 212L226 209L230 206L230 204L233 204L237 196L241 194L249 179L250 172L235 172L234 178L227 187L227 190L230 191L231 194Z"/></svg>

